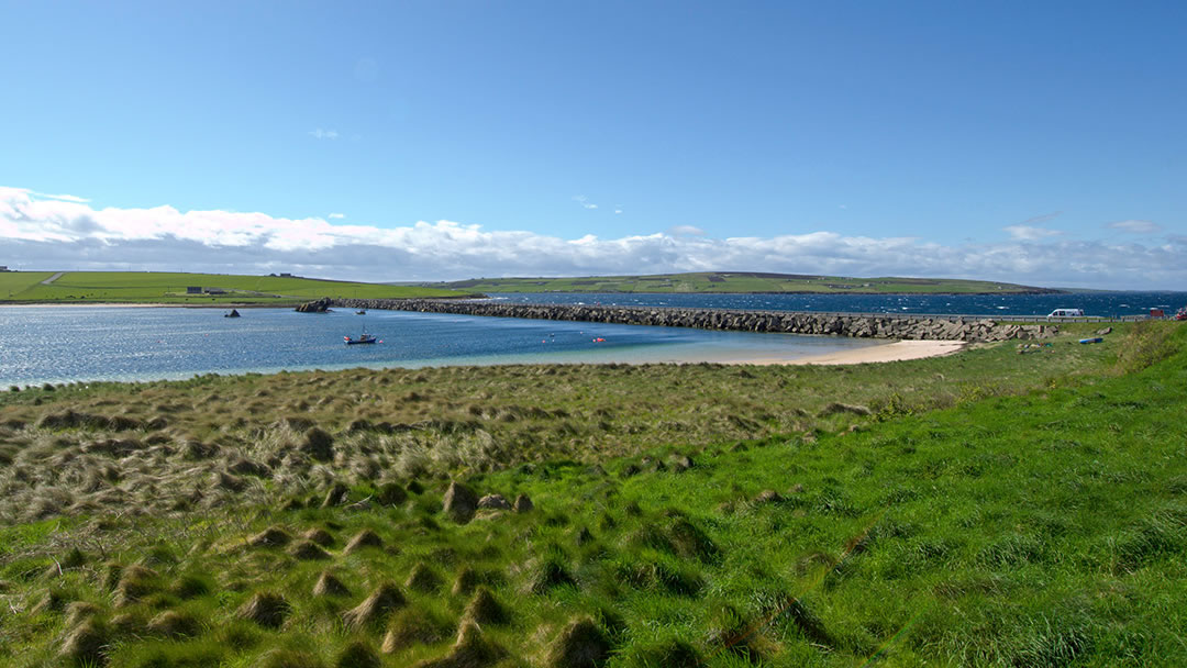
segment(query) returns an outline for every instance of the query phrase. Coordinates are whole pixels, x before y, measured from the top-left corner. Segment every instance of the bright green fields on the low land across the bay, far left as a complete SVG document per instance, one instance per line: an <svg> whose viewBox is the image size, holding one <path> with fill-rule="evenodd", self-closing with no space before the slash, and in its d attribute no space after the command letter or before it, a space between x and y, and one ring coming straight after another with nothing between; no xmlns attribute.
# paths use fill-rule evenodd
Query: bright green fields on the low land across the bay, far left
<svg viewBox="0 0 1187 668"><path fill-rule="evenodd" d="M65 272L49 285L46 272L0 273L0 299L14 303L293 304L322 297L461 297L468 293L381 284L324 281L290 276L241 276L159 272ZM186 294L186 287L223 294ZM4 297L7 295L7 297Z"/></svg>

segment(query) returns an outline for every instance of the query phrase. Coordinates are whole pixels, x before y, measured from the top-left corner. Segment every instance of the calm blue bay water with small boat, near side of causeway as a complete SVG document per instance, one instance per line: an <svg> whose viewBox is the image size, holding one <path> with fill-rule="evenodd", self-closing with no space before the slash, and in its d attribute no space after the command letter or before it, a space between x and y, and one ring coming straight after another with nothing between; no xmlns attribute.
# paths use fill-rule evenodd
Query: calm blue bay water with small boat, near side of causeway
<svg viewBox="0 0 1187 668"><path fill-rule="evenodd" d="M680 327L349 310L0 307L0 384L281 369L794 358L876 342ZM344 345L366 325L382 343ZM604 342L594 342L603 338Z"/></svg>

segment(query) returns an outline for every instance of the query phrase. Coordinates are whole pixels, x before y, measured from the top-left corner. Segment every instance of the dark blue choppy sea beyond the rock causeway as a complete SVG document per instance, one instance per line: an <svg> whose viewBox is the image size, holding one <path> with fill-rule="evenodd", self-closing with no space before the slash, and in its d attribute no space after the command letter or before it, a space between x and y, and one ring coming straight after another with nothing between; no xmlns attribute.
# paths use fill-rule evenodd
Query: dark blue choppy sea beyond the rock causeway
<svg viewBox="0 0 1187 668"><path fill-rule="evenodd" d="M844 311L857 313L945 313L1046 316L1055 308L1084 308L1087 316L1142 316L1150 308L1173 312L1187 305L1187 292L1079 292L1071 294L622 294L519 293L496 299L528 304L610 304L749 308L760 311Z"/></svg>

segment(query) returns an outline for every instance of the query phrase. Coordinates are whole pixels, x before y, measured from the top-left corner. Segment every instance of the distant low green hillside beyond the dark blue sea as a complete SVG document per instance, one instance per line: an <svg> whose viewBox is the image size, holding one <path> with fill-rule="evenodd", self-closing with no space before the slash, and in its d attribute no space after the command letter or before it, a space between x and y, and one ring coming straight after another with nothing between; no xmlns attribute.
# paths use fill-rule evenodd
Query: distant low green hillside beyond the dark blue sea
<svg viewBox="0 0 1187 668"><path fill-rule="evenodd" d="M728 292L728 293L1058 293L1062 291L994 281L817 276L761 272L698 272L643 276L509 278L419 284L471 292Z"/></svg>

